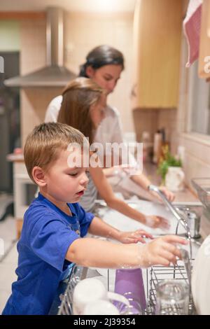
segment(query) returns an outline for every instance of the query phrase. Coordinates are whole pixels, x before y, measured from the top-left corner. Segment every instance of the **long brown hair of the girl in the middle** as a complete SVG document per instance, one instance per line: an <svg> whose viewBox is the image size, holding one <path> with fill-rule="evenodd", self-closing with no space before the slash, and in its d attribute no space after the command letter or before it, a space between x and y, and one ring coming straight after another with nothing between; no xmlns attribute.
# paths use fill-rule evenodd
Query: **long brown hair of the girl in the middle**
<svg viewBox="0 0 210 329"><path fill-rule="evenodd" d="M62 92L62 106L57 122L66 123L80 130L85 137L89 137L89 142L92 144L94 123L90 116L90 106L99 102L104 93L104 90L91 79L72 80Z"/></svg>

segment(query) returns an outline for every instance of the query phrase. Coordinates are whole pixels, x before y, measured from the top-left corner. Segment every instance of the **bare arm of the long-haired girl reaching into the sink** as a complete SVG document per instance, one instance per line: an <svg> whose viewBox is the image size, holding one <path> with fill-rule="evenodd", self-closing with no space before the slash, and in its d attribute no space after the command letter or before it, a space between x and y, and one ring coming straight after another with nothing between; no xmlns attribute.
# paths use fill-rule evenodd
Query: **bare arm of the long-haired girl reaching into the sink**
<svg viewBox="0 0 210 329"><path fill-rule="evenodd" d="M145 216L141 212L130 207L123 200L118 199L118 197L114 195L111 185L109 184L109 181L107 181L102 168L90 167L90 174L92 176L92 180L94 181L94 185L99 191L99 194L106 201L106 204L110 208L115 209L120 213L124 214L125 216L130 217L135 221L138 221L150 227L168 228L168 223L164 218L160 216Z"/></svg>

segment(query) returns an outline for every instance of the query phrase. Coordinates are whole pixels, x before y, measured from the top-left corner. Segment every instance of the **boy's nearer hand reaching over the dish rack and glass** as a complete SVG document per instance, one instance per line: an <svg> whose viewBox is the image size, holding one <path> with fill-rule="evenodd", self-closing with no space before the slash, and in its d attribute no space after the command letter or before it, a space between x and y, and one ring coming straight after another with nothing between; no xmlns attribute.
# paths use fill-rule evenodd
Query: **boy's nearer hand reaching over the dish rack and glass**
<svg viewBox="0 0 210 329"><path fill-rule="evenodd" d="M176 264L176 258L181 259L181 251L176 244L188 244L188 241L177 235L165 235L165 237L154 239L146 246L139 246L139 260L141 263L143 260L145 267L168 266L171 262Z"/></svg>

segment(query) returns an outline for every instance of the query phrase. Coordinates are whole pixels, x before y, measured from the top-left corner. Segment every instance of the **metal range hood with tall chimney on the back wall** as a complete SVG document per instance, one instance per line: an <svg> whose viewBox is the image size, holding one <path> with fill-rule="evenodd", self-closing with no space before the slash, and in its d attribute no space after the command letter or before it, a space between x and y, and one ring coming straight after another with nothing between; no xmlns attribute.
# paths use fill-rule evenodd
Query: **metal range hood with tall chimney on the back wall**
<svg viewBox="0 0 210 329"><path fill-rule="evenodd" d="M4 80L8 87L64 87L76 74L64 67L64 13L61 8L47 8L46 66L25 76Z"/></svg>

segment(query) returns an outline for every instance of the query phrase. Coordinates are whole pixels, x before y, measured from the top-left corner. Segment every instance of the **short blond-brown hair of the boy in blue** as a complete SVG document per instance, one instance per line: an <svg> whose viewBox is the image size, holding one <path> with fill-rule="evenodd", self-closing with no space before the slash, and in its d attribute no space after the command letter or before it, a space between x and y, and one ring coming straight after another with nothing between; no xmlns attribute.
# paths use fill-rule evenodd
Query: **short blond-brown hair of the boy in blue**
<svg viewBox="0 0 210 329"><path fill-rule="evenodd" d="M34 167L47 170L57 160L60 151L66 150L70 143L77 143L83 148L84 138L81 132L64 123L42 123L36 126L27 137L24 148L25 165L31 180L34 181Z"/></svg>

